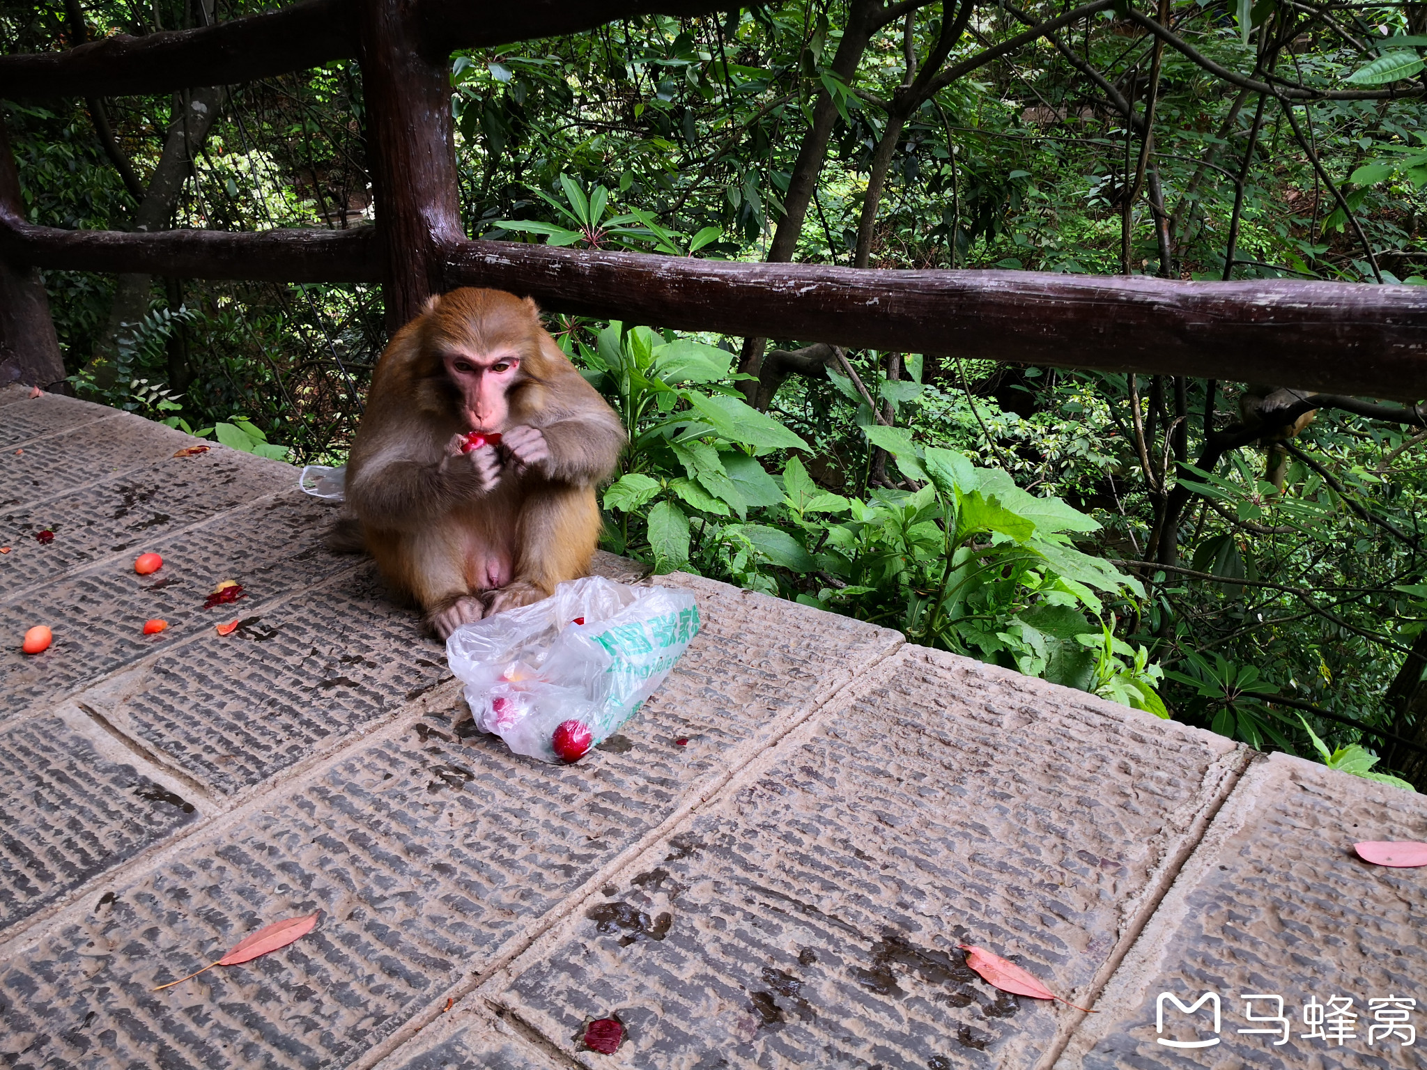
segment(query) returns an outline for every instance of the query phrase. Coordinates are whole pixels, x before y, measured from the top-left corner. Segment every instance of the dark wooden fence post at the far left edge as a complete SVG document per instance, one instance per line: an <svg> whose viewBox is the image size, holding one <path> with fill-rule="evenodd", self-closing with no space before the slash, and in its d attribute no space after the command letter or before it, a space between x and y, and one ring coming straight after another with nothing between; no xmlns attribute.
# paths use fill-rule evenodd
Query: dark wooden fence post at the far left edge
<svg viewBox="0 0 1427 1070"><path fill-rule="evenodd" d="M24 220L20 174L0 114L0 215ZM19 375L16 375L19 372ZM20 382L54 389L64 382L64 357L50 318L39 268L0 260L0 385Z"/></svg>

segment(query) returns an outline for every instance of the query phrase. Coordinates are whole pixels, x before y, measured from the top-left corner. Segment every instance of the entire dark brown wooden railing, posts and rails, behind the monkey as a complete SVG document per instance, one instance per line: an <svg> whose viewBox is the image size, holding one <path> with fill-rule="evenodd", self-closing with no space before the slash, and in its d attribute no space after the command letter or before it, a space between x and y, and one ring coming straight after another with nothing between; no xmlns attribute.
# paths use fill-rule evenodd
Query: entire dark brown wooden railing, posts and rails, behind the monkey
<svg viewBox="0 0 1427 1070"><path fill-rule="evenodd" d="M469 241L457 205L450 53L705 0L304 0L198 30L0 57L0 96L164 93L357 56L377 225L350 231L64 231L24 221L0 126L0 350L29 382L63 377L36 268L381 282L390 330L457 285L552 311L684 330L1193 375L1417 401L1427 287L1182 282L1030 271L742 264ZM0 360L7 357L0 351ZM59 370L59 371L56 371Z"/></svg>

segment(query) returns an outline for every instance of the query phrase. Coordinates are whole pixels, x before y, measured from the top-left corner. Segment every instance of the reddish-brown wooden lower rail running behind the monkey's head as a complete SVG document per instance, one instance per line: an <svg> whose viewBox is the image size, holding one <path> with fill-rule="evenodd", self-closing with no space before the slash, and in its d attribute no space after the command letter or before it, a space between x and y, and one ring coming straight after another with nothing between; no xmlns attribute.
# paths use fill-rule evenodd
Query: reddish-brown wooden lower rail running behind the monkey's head
<svg viewBox="0 0 1427 1070"><path fill-rule="evenodd" d="M440 245L445 288L498 287L549 311L899 352L1427 397L1427 287L856 270L508 241ZM73 271L290 282L374 282L384 263L372 227L121 234L13 217L0 217L0 254Z"/></svg>

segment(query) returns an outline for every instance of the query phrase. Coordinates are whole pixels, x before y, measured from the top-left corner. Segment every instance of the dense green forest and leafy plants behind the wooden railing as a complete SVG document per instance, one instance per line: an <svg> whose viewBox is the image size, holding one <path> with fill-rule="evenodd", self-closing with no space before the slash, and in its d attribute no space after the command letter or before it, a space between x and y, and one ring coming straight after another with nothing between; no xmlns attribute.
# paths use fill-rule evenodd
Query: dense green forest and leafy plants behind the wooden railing
<svg viewBox="0 0 1427 1070"><path fill-rule="evenodd" d="M6 53L244 0L3 0ZM1427 284L1427 4L789 0L452 57L474 238ZM30 221L372 224L355 61L4 101ZM368 285L46 272L80 397L340 464ZM631 434L605 545L1427 789L1427 414L551 317ZM59 384L53 384L59 387Z"/></svg>

